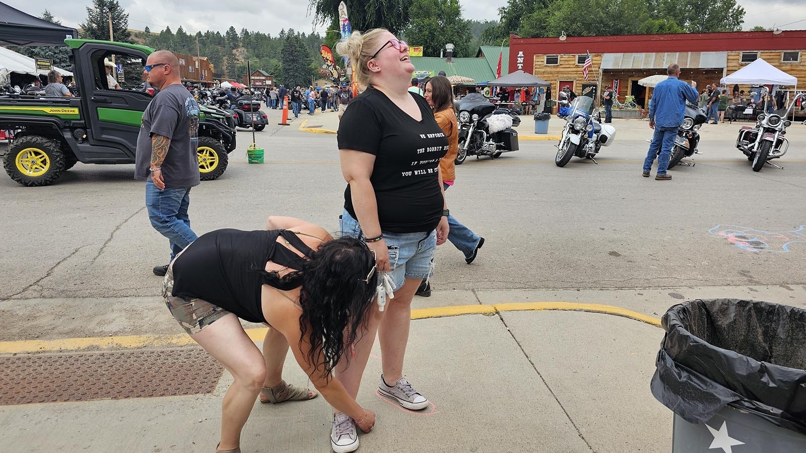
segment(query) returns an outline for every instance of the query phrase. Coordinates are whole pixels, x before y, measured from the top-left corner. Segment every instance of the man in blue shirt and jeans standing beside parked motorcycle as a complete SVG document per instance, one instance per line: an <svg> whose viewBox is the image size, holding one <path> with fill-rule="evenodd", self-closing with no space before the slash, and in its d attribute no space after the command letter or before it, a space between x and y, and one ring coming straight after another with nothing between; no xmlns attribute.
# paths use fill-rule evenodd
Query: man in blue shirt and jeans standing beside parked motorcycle
<svg viewBox="0 0 806 453"><path fill-rule="evenodd" d="M680 77L679 64L669 64L666 73L669 78L655 86L650 102L650 127L654 129L654 135L652 143L650 143L650 150L646 153L642 173L643 177L650 177L652 163L660 150L658 173L655 175L655 179L658 181L671 180L671 175L667 175L666 170L669 168L671 147L674 146L677 131L683 124L686 101L693 104L697 102L696 89L678 78Z"/></svg>

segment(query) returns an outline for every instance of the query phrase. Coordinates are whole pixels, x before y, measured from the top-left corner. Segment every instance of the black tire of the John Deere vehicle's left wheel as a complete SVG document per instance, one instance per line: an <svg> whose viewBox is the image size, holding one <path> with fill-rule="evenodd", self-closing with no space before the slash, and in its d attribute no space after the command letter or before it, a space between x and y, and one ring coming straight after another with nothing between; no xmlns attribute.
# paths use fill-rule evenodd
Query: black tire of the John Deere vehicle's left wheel
<svg viewBox="0 0 806 453"><path fill-rule="evenodd" d="M48 169L42 174L31 176L21 172L17 166L17 156L23 151L34 148L44 153L48 159ZM52 185L64 172L64 154L61 152L59 143L56 140L48 139L41 135L26 135L15 139L9 147L6 156L3 158L3 168L14 181L27 187L39 187L42 185Z"/></svg>

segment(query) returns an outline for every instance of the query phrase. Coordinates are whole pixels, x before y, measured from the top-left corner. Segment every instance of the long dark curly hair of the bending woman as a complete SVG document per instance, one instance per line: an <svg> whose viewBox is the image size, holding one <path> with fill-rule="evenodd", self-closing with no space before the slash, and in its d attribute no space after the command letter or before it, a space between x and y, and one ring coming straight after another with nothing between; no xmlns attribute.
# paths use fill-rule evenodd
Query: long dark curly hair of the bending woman
<svg viewBox="0 0 806 453"><path fill-rule="evenodd" d="M308 335L307 359L330 379L347 345L366 330L368 308L375 300L378 272L367 244L351 237L322 243L301 269L278 277L265 272L264 281L277 289L300 288L300 331ZM300 344L302 340L300 340Z"/></svg>

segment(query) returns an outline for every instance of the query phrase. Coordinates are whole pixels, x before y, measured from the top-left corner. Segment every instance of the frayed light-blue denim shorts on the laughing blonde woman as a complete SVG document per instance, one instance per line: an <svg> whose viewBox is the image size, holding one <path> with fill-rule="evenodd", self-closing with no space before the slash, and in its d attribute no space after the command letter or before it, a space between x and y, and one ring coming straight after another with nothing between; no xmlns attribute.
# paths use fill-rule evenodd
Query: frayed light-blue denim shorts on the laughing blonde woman
<svg viewBox="0 0 806 453"><path fill-rule="evenodd" d="M364 239L358 221L347 210L342 213L342 236ZM434 275L434 251L437 249L435 230L417 233L390 233L383 231L389 249L389 267L395 291L401 289L407 278L427 279Z"/></svg>

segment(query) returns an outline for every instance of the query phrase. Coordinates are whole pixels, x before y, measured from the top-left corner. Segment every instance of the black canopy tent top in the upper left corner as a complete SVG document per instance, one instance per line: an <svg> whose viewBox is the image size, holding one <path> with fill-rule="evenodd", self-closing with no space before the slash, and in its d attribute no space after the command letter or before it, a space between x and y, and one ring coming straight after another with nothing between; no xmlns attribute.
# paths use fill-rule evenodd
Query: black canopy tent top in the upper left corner
<svg viewBox="0 0 806 453"><path fill-rule="evenodd" d="M77 37L75 28L49 23L0 2L2 46L63 46L64 39Z"/></svg>

